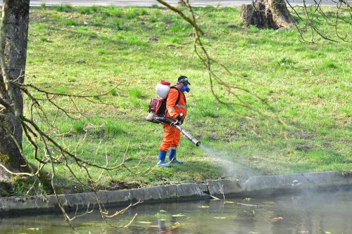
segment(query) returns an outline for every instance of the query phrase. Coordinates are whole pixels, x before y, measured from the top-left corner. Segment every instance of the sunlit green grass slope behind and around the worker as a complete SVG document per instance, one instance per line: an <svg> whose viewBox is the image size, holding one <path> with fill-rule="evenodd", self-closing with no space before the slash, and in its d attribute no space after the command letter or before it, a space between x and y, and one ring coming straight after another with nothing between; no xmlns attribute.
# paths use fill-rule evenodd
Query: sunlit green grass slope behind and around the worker
<svg viewBox="0 0 352 234"><path fill-rule="evenodd" d="M212 9L194 11L202 15ZM89 168L93 178L101 176L97 185L102 187L111 181L153 186L221 178L228 170L219 161L222 157L258 174L351 171L351 45L322 40L302 44L295 30L242 27L239 12L239 8L219 8L200 21L209 55L235 75L229 76L215 63L213 70L225 82L243 88L229 93L213 83L220 100L235 103L225 105L211 93L208 72L193 51L191 27L177 14L157 6L31 8L26 76L35 76L35 85L56 93L107 92L101 99L111 104L99 105L96 98L94 103L76 100L84 117L72 120L63 113L56 116L54 107L43 103L49 119L56 118L56 129L49 130L44 122L40 126L96 164L112 167L125 155L126 166L135 167L131 171L120 167L101 176L100 169ZM351 27L340 30L352 34ZM151 37L158 41L149 41ZM177 157L185 164L154 168L163 129L144 117L150 98L156 96L156 84L175 83L181 74L191 79L184 128L212 152L221 153L209 155L182 138ZM68 98L55 101L75 109ZM30 144L23 145L34 163ZM73 171L87 181L82 168L76 165ZM56 172L69 188L73 176L61 166Z"/></svg>

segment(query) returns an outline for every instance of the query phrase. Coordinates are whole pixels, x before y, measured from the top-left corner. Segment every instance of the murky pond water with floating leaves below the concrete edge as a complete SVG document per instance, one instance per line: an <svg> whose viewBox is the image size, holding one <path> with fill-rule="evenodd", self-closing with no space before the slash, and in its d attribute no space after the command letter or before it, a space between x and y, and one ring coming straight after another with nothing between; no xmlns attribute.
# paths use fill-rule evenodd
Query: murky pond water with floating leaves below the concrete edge
<svg viewBox="0 0 352 234"><path fill-rule="evenodd" d="M116 210L111 208L110 212ZM272 198L139 204L112 219L103 220L99 212L93 212L73 223L75 230L59 213L0 216L0 233L349 234L352 233L352 190Z"/></svg>

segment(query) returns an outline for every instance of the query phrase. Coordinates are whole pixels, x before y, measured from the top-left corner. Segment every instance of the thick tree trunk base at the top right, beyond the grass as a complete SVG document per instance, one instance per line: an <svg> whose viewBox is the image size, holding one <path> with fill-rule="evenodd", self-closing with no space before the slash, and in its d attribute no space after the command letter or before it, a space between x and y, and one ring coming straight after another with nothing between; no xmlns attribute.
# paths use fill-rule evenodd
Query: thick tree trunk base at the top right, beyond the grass
<svg viewBox="0 0 352 234"><path fill-rule="evenodd" d="M255 0L243 4L241 18L246 25L270 27L275 30L292 27L292 18L284 0Z"/></svg>

